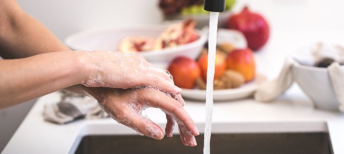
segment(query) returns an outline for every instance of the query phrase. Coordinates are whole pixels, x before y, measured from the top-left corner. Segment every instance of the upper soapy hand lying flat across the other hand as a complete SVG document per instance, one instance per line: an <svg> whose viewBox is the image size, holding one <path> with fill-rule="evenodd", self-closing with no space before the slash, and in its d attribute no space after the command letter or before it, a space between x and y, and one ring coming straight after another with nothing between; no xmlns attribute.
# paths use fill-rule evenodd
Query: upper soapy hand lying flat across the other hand
<svg viewBox="0 0 344 154"><path fill-rule="evenodd" d="M142 55L112 51L83 51L92 66L82 82L87 87L127 89L152 85L170 93L180 93L167 70L153 67Z"/></svg>

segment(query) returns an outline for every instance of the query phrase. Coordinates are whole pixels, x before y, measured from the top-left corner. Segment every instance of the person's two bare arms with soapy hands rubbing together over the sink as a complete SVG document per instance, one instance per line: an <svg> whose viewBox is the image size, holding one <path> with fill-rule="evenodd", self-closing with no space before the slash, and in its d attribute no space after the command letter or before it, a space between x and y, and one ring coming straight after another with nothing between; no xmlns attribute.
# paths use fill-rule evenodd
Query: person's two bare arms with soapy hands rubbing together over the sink
<svg viewBox="0 0 344 154"><path fill-rule="evenodd" d="M181 140L195 146L199 134L186 113L181 89L164 70L156 69L142 56L106 51L70 51L46 27L26 14L14 0L0 0L0 109L50 92L67 89L97 99L115 120L135 113L130 105L150 105L166 112L166 133L172 136L174 118L179 119ZM132 87L151 85L155 90ZM96 88L98 87L98 88ZM108 88L99 88L108 87ZM113 88L119 88L114 92ZM126 90L124 90L126 89ZM179 94L171 99L161 90ZM136 98L131 100L130 98ZM118 110L119 112L116 112ZM129 111L129 112L126 112ZM136 113L136 115L139 115ZM144 117L124 123L146 136L162 139L163 131ZM155 128L152 133L151 128Z"/></svg>

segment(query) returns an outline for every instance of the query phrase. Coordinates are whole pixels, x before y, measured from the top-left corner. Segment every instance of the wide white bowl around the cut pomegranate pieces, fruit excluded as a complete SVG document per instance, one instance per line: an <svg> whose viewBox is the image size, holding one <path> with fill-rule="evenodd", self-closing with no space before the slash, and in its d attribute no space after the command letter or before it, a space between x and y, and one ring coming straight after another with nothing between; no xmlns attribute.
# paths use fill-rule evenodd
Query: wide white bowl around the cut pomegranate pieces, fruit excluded
<svg viewBox="0 0 344 154"><path fill-rule="evenodd" d="M86 30L66 37L65 44L72 50L117 51L119 42L126 36L148 36L156 38L168 25L135 26ZM196 29L198 40L156 51L138 52L150 63L169 63L176 56L184 55L196 59L207 40L206 34Z"/></svg>

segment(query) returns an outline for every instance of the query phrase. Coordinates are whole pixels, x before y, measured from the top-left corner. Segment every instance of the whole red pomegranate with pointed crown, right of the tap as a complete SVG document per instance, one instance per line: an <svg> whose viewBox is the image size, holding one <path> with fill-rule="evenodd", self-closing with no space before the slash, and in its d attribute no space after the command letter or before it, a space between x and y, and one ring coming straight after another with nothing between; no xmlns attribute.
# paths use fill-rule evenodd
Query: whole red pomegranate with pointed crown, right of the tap
<svg viewBox="0 0 344 154"><path fill-rule="evenodd" d="M227 28L241 31L247 40L247 46L258 50L269 38L269 25L265 18L258 13L251 12L246 6L238 13L228 18Z"/></svg>

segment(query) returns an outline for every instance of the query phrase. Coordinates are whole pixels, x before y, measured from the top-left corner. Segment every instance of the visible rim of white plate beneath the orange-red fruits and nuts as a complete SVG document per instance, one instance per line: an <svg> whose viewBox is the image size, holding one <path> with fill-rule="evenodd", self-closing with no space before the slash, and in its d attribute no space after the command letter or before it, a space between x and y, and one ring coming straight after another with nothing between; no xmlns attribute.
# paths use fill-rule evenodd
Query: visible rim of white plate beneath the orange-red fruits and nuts
<svg viewBox="0 0 344 154"><path fill-rule="evenodd" d="M266 76L263 74L257 74L256 78L253 81L249 83L245 83L239 88L214 90L213 100L214 101L228 101L228 100L236 100L236 99L243 99L243 98L251 97L254 91L257 89L257 87L264 81L266 81ZM183 89L181 94L184 99L205 101L206 90Z"/></svg>

